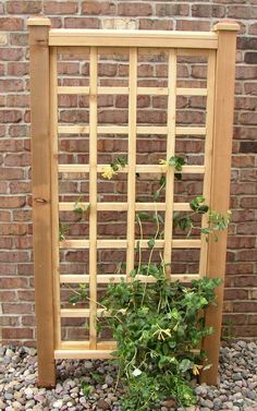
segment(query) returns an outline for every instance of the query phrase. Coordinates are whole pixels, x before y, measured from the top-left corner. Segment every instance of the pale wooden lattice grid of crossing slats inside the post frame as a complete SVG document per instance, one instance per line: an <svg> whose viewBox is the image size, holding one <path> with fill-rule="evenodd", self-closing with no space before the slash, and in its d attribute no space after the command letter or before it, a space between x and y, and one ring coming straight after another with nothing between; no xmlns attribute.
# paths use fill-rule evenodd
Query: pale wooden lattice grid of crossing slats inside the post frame
<svg viewBox="0 0 257 411"><path fill-rule="evenodd" d="M205 160L204 165L188 165L184 166L182 173L203 174L204 176L204 192L207 204L210 198L210 170L211 170L211 153L212 153L212 112L213 112L213 89L215 89L215 50L196 50L196 49L180 49L169 48L164 49L168 55L168 85L167 87L138 87L137 86L137 65L138 65L138 49L130 47L128 51L128 86L99 86L98 85L98 55L97 47L90 47L89 52L89 85L88 86L58 86L57 76L57 55L58 49L51 49L51 84L54 84L52 89L52 113L58 110L58 95L86 95L89 98L89 124L70 124L58 123L57 114L52 118L52 130L54 141L54 154L58 158L58 134L87 134L89 135L89 162L88 164L59 164L56 172L65 173L87 173L89 174L89 202L82 203L84 208L90 206L89 209L89 239L72 239L60 242L61 249L69 250L89 250L89 273L87 275L61 274L59 275L59 255L56 253L56 342L57 351L56 358L63 358L69 355L69 351L64 350L83 350L77 351L76 355L90 356L95 354L100 358L109 358L110 351L113 350L112 341L98 341L96 330L96 316L100 316L101 309L97 307L97 290L101 283L108 283L110 279L119 282L121 278L128 278L130 271L135 265L135 247L137 240L135 238L135 213L143 210L162 210L164 211L164 238L157 240L157 249L163 249L163 258L166 263L171 262L172 249L198 249L199 271L198 274L176 274L171 273L168 266L167 271L171 280L191 281L193 278L203 277L206 274L207 265L207 243L204 237L200 239L173 239L172 238L172 220L173 211L189 210L189 203L173 203L174 193L174 171L170 168L167 172L167 189L166 202L159 203L142 203L136 202L136 173L162 173L160 165L137 165L136 164L136 138L137 135L155 134L162 135L167 138L166 157L175 155L175 138L176 136L198 136L205 140ZM61 51L64 51L62 49ZM207 72L207 87L178 87L178 56L205 57L208 62ZM128 121L127 125L99 125L97 118L97 98L100 95L126 95L128 96ZM166 125L138 125L137 124L137 96L167 96L168 98L168 119ZM178 96L207 96L206 104L206 124L201 126L178 126L176 113L176 97ZM54 133L54 130L57 131ZM102 172L107 165L97 164L97 137L99 134L127 134L128 140L128 156L127 166L121 169L120 172L127 173L127 202L98 202L97 201L97 176ZM57 181L57 174L52 176ZM57 186L54 188L57 200ZM73 210L73 202L60 202L59 211ZM127 213L127 235L125 240L113 239L98 239L97 235L97 211L126 211ZM56 210L58 211L58 210ZM56 214L56 219L58 219ZM205 223L206 217L203 217ZM140 247L147 249L147 240L140 241ZM126 275L97 273L97 250L98 249L126 249ZM151 278L139 276L144 281L151 281ZM60 283L81 283L89 285L90 302L88 309L60 309ZM61 319L84 317L89 319L89 340L88 341L62 341L61 339ZM74 355L74 353L72 353Z"/></svg>

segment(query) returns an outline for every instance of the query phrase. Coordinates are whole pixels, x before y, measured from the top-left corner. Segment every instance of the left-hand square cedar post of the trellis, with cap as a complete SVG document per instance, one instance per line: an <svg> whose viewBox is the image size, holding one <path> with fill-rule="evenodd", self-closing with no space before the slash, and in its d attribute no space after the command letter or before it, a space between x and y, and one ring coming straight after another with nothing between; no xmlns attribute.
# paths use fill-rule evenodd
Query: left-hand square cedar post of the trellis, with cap
<svg viewBox="0 0 257 411"><path fill-rule="evenodd" d="M27 22L30 49L30 137L33 179L33 242L35 310L38 349L38 383L56 384L51 246L51 145L49 101L50 20Z"/></svg>

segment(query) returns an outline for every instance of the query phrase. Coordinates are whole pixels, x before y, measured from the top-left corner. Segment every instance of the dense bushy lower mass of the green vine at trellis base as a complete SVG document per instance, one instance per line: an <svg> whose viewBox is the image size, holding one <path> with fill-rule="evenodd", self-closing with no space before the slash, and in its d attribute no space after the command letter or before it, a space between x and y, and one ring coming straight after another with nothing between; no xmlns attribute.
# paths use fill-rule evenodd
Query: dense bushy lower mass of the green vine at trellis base
<svg viewBox="0 0 257 411"><path fill-rule="evenodd" d="M101 302L111 315L106 322L118 343L113 354L127 387L122 400L127 411L154 410L170 397L179 404L194 403L189 379L205 353L193 350L213 331L205 326L203 310L215 301L220 280L204 278L185 287L170 283L163 265L151 264L148 273L156 282L110 283ZM145 276L146 267L139 274Z"/></svg>

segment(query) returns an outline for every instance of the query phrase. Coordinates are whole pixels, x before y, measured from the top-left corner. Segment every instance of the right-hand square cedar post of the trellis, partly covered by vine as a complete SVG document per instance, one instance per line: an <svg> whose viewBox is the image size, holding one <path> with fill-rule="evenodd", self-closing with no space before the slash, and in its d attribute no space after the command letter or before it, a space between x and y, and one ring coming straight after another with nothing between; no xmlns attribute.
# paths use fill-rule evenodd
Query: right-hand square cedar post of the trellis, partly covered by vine
<svg viewBox="0 0 257 411"><path fill-rule="evenodd" d="M218 33L216 64L215 121L213 121L213 161L210 193L210 208L225 214L230 206L230 176L233 134L234 78L237 23L221 22L213 31ZM228 232L219 233L219 241L210 240L208 245L207 275L224 280ZM201 380L216 385L218 380L219 348L223 309L222 283L217 289L217 306L207 310L206 325L215 333L204 340L212 366L203 372Z"/></svg>

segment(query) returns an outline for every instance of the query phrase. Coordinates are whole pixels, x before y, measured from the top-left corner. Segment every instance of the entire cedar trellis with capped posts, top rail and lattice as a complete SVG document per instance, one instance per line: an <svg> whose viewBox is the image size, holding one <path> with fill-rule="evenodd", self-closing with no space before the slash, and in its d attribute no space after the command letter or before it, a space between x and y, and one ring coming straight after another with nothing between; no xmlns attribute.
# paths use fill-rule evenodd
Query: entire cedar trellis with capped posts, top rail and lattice
<svg viewBox="0 0 257 411"><path fill-rule="evenodd" d="M30 101L32 101L32 152L33 152L33 207L34 207L34 261L39 384L53 385L56 382L56 359L97 359L110 358L113 350L111 341L97 340L95 316L97 309L98 283L107 282L112 275L97 275L97 249L126 249L126 271L134 267L136 210L154 209L154 204L136 203L135 173L160 172L160 166L136 164L136 136L149 132L137 125L136 101L138 94L168 97L168 122L166 126L152 125L151 132L167 135L167 158L174 155L176 135L201 135L205 138L205 161L203 166L184 166L184 173L204 174L204 196L211 209L225 213L229 208L230 165L233 123L235 39L238 25L220 22L212 33L199 32L148 32L148 31L89 31L50 29L46 17L28 20L30 44ZM57 77L57 52L65 48L75 50L89 48L89 86L60 87ZM98 53L105 47L122 47L128 52L128 87L98 87ZM168 53L168 87L137 87L137 51L140 48L163 48ZM206 88L180 88L176 86L176 57L205 56L208 62ZM89 124L58 124L58 94L87 94L89 96ZM128 124L99 126L97 119L98 95L128 95ZM207 96L206 124L203 128L176 126L176 96ZM58 133L89 134L88 165L58 164ZM127 173L127 203L98 203L97 165L98 133L127 133L128 164L123 172ZM71 210L72 203L58 200L58 173L89 173L89 240L71 240L71 249L89 249L89 274L84 276L59 274L59 210ZM173 193L174 174L168 171L167 192ZM168 200L168 195L167 195ZM171 261L171 250L199 249L200 262L198 276L224 277L227 233L219 235L219 242L205 239L172 239L172 214L174 210L188 210L187 203L158 203L166 213L164 240L157 241L163 249L164 261ZM97 210L126 210L126 240L99 240L97 238ZM62 244L61 244L62 246ZM146 244L142 244L146 246ZM120 276L114 276L119 281ZM191 275L170 273L171 280L189 281ZM89 310L60 307L61 282L89 283ZM222 317L223 286L217 291L218 306L206 314L208 325L216 333L204 341L210 362L213 364L203 375L209 384L217 383L219 341ZM89 340L85 342L61 340L61 317L89 317Z"/></svg>

